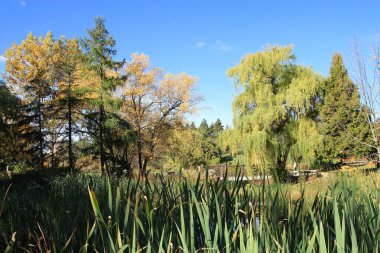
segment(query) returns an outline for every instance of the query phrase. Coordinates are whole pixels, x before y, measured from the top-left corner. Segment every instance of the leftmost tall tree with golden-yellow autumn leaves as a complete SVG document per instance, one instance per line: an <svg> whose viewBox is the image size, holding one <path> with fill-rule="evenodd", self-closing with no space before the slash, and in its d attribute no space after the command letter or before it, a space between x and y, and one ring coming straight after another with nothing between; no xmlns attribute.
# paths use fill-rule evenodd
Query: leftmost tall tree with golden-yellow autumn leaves
<svg viewBox="0 0 380 253"><path fill-rule="evenodd" d="M45 121L49 118L49 102L54 92L52 66L54 66L54 45L52 33L36 38L29 33L20 45L14 43L5 52L6 81L13 91L29 105L30 114L38 126L39 165L44 166L46 147Z"/></svg>

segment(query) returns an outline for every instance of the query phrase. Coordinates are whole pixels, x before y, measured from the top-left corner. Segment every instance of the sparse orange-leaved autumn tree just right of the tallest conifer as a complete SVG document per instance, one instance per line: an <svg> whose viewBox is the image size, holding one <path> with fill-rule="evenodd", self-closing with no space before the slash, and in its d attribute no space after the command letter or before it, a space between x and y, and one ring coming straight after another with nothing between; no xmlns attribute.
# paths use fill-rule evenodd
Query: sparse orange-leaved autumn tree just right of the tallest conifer
<svg viewBox="0 0 380 253"><path fill-rule="evenodd" d="M148 162L164 148L169 130L192 112L197 102L192 94L196 79L185 73L162 77L144 54L132 55L125 74L121 111L135 133L138 168L146 174Z"/></svg>

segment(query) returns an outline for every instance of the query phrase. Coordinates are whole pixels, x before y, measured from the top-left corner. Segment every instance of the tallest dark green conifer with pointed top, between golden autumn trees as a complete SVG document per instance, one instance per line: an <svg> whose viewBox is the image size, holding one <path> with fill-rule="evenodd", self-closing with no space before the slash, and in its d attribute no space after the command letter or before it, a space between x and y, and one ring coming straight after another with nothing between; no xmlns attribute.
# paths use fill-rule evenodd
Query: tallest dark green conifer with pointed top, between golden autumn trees
<svg viewBox="0 0 380 253"><path fill-rule="evenodd" d="M105 121L106 106L112 99L112 91L118 82L118 74L114 73L121 66L120 62L114 61L116 55L115 40L105 27L103 18L95 19L95 27L87 30L88 38L82 39L82 47L85 52L88 68L95 79L96 86L93 87L92 103L97 107L96 113L92 114L93 124L96 125L98 137L95 138L99 145L100 169L105 171L106 155L105 143ZM96 121L96 123L95 123Z"/></svg>

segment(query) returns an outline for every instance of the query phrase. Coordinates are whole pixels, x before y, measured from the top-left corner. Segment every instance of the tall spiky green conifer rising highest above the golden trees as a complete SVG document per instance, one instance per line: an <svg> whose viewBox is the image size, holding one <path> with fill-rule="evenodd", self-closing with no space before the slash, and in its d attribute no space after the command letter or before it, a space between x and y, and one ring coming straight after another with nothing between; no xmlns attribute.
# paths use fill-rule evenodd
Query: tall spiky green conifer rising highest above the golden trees
<svg viewBox="0 0 380 253"><path fill-rule="evenodd" d="M116 55L114 38L109 35L105 27L103 18L95 19L95 27L87 30L89 38L82 39L82 48L85 54L85 62L87 64L89 75L89 104L92 108L88 108L85 115L86 127L88 133L94 140L92 154L100 157L100 168L102 173L110 168L106 164L107 154L104 146L105 140L111 136L106 136L106 121L110 121L112 114L108 115L109 110L113 110L115 99L112 96L121 78L116 70L122 66L122 62L113 60ZM92 83L91 83L92 82ZM107 110L108 109L108 110ZM112 143L112 142L111 142Z"/></svg>

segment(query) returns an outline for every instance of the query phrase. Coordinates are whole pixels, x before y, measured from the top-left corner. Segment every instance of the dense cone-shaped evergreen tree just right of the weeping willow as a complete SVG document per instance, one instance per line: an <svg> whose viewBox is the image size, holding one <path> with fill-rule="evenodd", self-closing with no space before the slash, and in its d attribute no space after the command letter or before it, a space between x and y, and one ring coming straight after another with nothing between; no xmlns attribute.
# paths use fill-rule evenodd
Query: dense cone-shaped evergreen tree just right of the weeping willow
<svg viewBox="0 0 380 253"><path fill-rule="evenodd" d="M348 76L340 54L332 58L320 119L326 161L339 163L353 155L363 157L370 153L371 149L360 144L368 141L370 129L365 123L358 87Z"/></svg>

